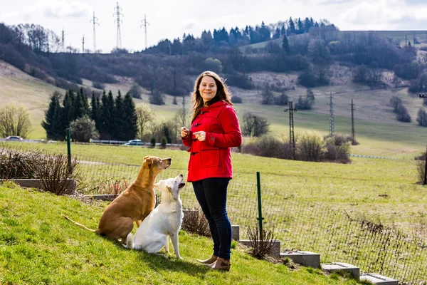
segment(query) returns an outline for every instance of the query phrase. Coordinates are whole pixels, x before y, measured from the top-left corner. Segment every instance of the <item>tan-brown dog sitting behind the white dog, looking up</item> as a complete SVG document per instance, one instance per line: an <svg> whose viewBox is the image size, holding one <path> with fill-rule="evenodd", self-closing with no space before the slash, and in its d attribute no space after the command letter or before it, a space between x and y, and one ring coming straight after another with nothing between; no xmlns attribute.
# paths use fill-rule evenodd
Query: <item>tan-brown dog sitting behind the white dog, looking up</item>
<svg viewBox="0 0 427 285"><path fill-rule="evenodd" d="M156 176L171 166L171 163L171 158L144 157L137 179L108 205L102 213L97 230L89 229L85 225L74 222L65 215L63 216L70 222L91 232L106 235L112 239L121 239L122 244L126 244L127 234L133 229L133 222L139 227L142 220L154 209L156 204L156 195L154 194Z"/></svg>

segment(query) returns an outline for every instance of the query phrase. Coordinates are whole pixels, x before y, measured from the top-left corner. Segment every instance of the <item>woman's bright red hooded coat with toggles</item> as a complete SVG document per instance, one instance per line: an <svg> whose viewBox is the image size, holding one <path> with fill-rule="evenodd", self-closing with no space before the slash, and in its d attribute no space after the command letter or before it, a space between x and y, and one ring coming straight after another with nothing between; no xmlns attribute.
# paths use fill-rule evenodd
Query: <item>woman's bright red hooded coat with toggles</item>
<svg viewBox="0 0 427 285"><path fill-rule="evenodd" d="M206 132L203 142L193 135L200 130ZM232 178L230 147L238 147L242 143L236 111L225 101L201 108L191 125L190 134L182 142L190 147L188 182L211 177Z"/></svg>

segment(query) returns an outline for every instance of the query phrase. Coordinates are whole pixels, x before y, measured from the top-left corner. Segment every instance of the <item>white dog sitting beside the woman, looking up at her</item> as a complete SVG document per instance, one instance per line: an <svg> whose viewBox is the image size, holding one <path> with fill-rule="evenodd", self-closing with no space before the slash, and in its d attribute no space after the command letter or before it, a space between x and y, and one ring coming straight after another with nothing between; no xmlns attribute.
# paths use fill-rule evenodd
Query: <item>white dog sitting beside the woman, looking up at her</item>
<svg viewBox="0 0 427 285"><path fill-rule="evenodd" d="M142 249L153 254L164 247L169 253L169 239L167 238L169 236L176 257L181 259L179 256L178 231L184 214L182 213L179 190L185 185L183 180L184 177L178 175L175 178L160 180L154 184L155 189L162 191L162 202L142 221L135 236L127 235L127 248Z"/></svg>

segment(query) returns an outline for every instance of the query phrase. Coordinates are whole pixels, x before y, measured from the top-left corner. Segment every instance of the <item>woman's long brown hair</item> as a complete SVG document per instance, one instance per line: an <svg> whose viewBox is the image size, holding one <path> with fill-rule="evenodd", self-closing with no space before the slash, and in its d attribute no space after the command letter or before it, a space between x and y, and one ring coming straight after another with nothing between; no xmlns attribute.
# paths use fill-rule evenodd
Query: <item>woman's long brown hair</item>
<svg viewBox="0 0 427 285"><path fill-rule="evenodd" d="M206 105L212 105L219 100L226 101L228 105L233 105L231 103L231 97L230 97L230 91L228 90L228 87L224 83L223 79L221 79L218 74L212 72L212 71L204 71L199 75L199 77L196 79L196 82L194 82L194 90L191 93L191 110L193 111L193 115L191 115L191 123L196 120L197 116L200 113L201 108L203 108L203 98L201 98L200 92L199 92L199 86L201 83L201 78L204 76L209 76L211 78L214 78L215 84L216 84L216 95L214 98L206 102Z"/></svg>

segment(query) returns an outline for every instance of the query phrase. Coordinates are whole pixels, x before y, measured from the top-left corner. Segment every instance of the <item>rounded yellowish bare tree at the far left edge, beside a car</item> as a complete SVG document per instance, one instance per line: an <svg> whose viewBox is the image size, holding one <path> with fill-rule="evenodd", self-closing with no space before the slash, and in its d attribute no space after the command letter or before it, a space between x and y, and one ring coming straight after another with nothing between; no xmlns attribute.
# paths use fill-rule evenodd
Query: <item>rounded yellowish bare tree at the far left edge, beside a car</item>
<svg viewBox="0 0 427 285"><path fill-rule="evenodd" d="M5 105L0 109L0 136L19 135L26 138L31 132L30 112L23 106Z"/></svg>

